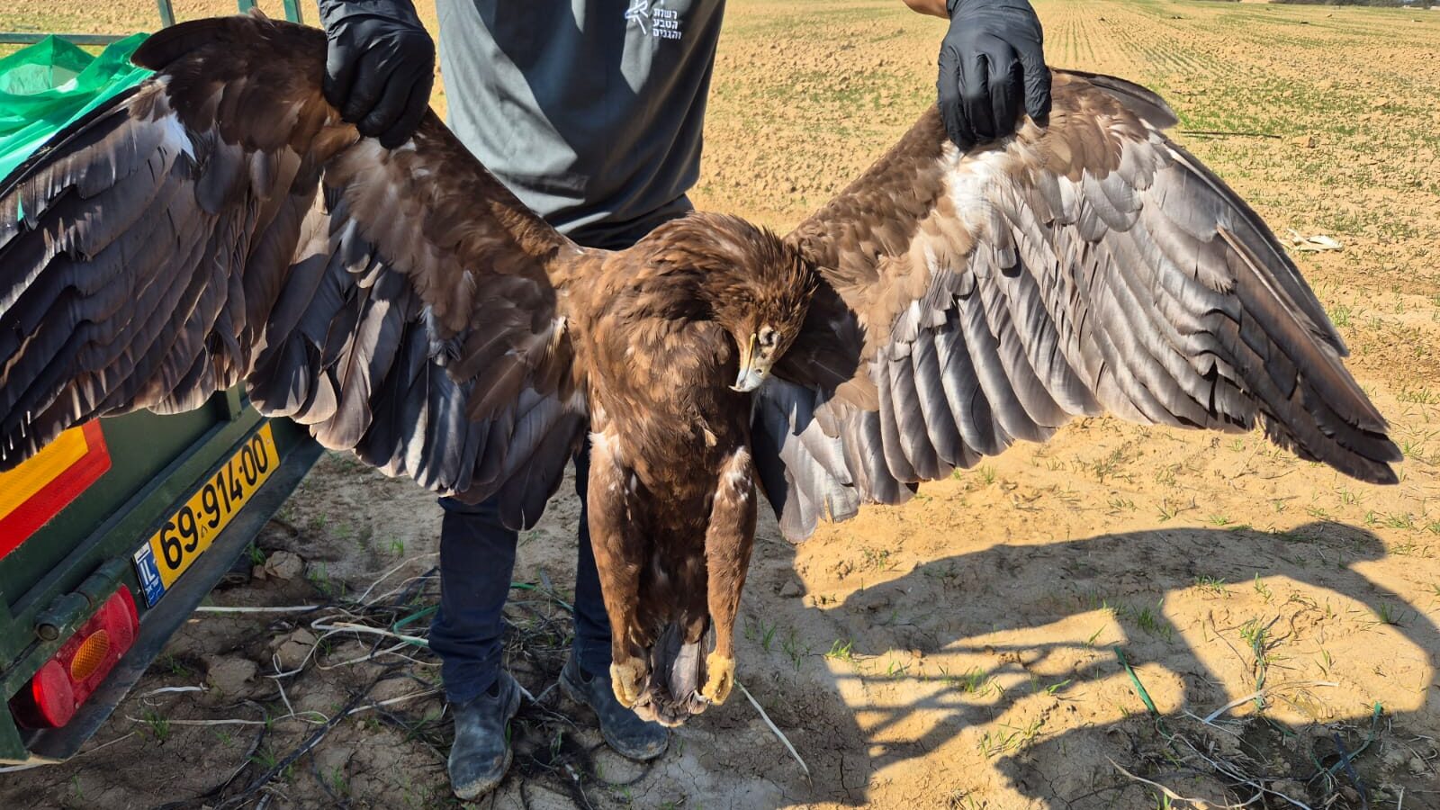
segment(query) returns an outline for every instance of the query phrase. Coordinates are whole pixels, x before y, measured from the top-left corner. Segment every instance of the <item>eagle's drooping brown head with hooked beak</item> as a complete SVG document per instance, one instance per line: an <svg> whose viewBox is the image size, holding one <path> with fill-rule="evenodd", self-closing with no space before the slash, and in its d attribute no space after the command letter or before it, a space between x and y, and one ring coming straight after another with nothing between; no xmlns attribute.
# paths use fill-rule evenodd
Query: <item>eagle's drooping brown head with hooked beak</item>
<svg viewBox="0 0 1440 810"><path fill-rule="evenodd" d="M773 232L716 213L657 229L665 261L696 280L710 317L734 339L734 391L755 391L795 342L815 293L815 272Z"/></svg>

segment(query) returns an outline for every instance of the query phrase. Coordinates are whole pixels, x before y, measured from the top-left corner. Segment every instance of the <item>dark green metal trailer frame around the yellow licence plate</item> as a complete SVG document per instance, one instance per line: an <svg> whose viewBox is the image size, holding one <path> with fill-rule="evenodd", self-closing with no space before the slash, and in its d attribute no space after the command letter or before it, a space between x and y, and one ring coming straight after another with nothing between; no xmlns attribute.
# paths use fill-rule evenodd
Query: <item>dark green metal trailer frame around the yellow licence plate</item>
<svg viewBox="0 0 1440 810"><path fill-rule="evenodd" d="M287 19L302 20L300 1L284 0ZM174 25L170 0L157 4L161 22ZM238 0L236 6L245 13L255 0ZM0 32L0 43L29 45L45 36ZM78 45L124 39L59 36ZM164 597L145 607L131 562L134 552L265 424L271 425L279 467ZM158 417L143 411L105 418L99 425L114 460L111 470L0 558L0 762L46 764L75 755L321 454L304 428L261 417L248 405L242 386L219 392L187 414ZM130 588L137 597L140 631L131 649L63 728L20 728L6 702L117 588Z"/></svg>

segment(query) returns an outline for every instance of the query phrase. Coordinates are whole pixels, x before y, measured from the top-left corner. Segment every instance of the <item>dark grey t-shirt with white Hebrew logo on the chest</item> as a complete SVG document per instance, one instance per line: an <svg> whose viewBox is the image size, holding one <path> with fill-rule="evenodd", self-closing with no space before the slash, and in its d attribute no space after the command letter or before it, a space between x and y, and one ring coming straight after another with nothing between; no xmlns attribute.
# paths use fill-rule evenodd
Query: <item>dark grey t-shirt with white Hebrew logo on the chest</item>
<svg viewBox="0 0 1440 810"><path fill-rule="evenodd" d="M724 0L439 0L449 125L582 244L690 208Z"/></svg>

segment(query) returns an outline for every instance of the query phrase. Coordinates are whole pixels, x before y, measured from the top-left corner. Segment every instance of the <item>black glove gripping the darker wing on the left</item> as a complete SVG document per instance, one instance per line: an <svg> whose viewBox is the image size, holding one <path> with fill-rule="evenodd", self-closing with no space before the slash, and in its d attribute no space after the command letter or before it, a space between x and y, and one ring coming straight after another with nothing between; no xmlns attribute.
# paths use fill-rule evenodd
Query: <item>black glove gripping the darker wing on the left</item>
<svg viewBox="0 0 1440 810"><path fill-rule="evenodd" d="M425 117L435 84L435 43L410 0L320 0L325 101L361 135L403 144Z"/></svg>

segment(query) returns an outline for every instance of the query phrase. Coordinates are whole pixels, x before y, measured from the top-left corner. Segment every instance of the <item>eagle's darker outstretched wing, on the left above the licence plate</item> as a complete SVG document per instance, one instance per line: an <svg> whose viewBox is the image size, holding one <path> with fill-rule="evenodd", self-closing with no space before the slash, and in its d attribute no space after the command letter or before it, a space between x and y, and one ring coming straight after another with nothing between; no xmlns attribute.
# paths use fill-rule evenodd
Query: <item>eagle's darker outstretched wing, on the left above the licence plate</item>
<svg viewBox="0 0 1440 810"><path fill-rule="evenodd" d="M0 187L0 470L245 380L327 447L539 517L585 424L557 303L582 252L433 114L360 138L324 58L262 17L163 30L154 76Z"/></svg>

